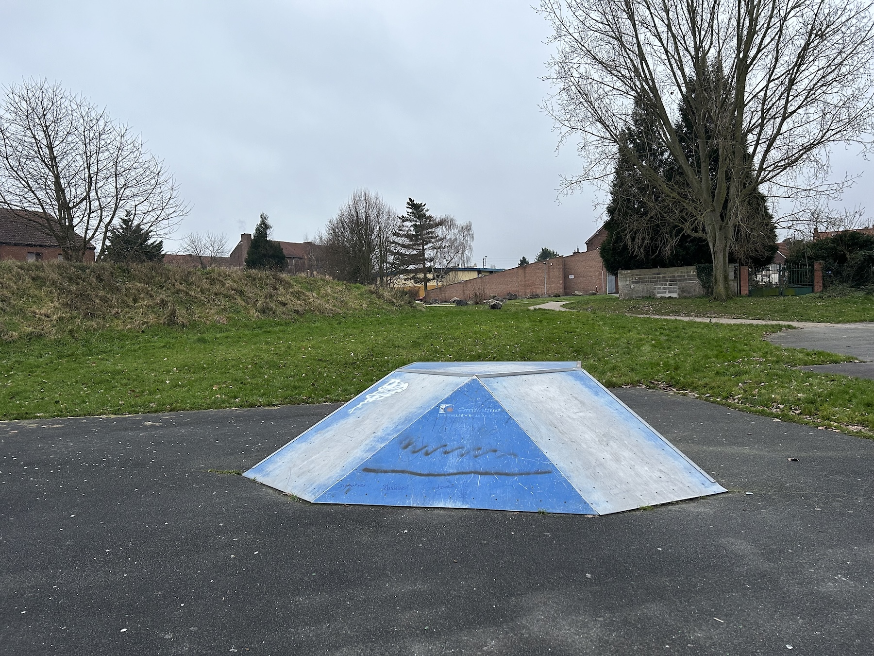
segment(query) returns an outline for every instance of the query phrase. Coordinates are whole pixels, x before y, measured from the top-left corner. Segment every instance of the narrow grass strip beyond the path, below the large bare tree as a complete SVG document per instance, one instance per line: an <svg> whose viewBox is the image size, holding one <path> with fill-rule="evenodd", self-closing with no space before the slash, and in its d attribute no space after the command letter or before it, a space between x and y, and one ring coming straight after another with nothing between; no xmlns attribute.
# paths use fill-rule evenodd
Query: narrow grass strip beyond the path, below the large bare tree
<svg viewBox="0 0 874 656"><path fill-rule="evenodd" d="M734 297L725 303L710 298L642 298L622 301L616 297L570 297L569 310L655 314L683 317L766 319L768 321L815 321L843 324L874 321L874 296L857 292L846 297L806 294L801 297ZM546 298L546 301L566 298ZM514 302L517 303L517 302ZM537 304L526 299L526 304Z"/></svg>

